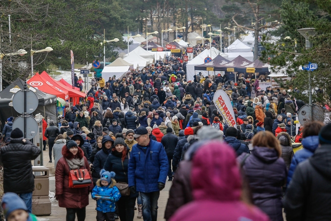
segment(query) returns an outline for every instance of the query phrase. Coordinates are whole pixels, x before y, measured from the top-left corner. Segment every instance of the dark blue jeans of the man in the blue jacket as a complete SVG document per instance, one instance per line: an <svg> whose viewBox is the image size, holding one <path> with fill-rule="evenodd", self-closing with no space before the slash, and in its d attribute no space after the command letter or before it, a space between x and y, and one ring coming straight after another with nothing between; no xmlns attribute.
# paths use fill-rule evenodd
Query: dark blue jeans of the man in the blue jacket
<svg viewBox="0 0 331 221"><path fill-rule="evenodd" d="M140 192L143 200L143 219L144 221L157 221L157 200L160 196L159 191L151 193Z"/></svg>

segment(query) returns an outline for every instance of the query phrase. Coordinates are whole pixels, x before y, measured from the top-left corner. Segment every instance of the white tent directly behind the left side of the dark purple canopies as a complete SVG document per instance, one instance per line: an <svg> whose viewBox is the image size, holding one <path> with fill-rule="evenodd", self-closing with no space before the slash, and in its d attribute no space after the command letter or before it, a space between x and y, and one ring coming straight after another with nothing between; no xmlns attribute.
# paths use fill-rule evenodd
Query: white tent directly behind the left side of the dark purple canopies
<svg viewBox="0 0 331 221"><path fill-rule="evenodd" d="M220 52L218 49L212 47L211 48L211 56L210 56L210 50L205 49L202 53L200 53L198 56L193 58L192 60L188 61L186 64L186 79L187 81L193 81L194 80L194 66L204 64L204 58L211 57L211 59L214 59L217 55L221 55L224 58L228 59L228 56L222 52Z"/></svg>

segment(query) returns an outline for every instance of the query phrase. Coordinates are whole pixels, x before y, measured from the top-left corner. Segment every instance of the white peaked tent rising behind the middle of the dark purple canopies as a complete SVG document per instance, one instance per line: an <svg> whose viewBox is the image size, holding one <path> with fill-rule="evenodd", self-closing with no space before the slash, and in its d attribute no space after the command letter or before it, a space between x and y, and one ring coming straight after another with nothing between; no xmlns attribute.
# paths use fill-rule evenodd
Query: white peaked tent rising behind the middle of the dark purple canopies
<svg viewBox="0 0 331 221"><path fill-rule="evenodd" d="M228 48L225 49L228 60L233 60L241 55L249 61L254 61L254 54L250 46L245 45L239 39L235 40Z"/></svg>

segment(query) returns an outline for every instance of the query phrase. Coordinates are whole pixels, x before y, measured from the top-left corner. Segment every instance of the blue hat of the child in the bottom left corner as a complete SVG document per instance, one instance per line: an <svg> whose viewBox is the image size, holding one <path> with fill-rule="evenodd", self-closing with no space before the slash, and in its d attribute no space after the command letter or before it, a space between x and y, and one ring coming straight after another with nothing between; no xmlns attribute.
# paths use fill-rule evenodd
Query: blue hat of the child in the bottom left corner
<svg viewBox="0 0 331 221"><path fill-rule="evenodd" d="M27 212L27 207L23 199L16 193L5 193L2 197L2 209L4 213L4 217L6 220L9 215L15 210L25 210Z"/></svg>

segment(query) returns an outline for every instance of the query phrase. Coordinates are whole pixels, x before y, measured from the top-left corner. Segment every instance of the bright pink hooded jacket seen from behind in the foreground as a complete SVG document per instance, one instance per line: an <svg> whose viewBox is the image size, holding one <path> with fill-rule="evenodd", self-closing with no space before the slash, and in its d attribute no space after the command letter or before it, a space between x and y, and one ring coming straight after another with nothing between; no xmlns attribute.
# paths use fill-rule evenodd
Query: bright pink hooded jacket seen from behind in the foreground
<svg viewBox="0 0 331 221"><path fill-rule="evenodd" d="M241 175L233 148L220 141L203 144L193 158L194 200L170 221L270 221L256 206L240 201Z"/></svg>

